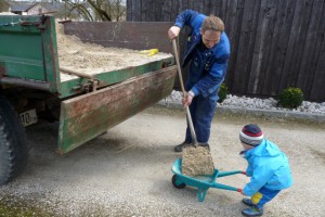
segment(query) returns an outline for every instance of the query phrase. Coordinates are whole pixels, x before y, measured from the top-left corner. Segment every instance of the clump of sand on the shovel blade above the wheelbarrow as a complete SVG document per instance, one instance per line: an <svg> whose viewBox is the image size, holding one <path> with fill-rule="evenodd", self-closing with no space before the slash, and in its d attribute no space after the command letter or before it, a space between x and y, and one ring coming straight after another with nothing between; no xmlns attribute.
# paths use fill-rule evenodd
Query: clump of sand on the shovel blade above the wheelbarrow
<svg viewBox="0 0 325 217"><path fill-rule="evenodd" d="M210 151L204 146L184 148L182 153L182 174L190 177L210 176L214 164Z"/></svg>

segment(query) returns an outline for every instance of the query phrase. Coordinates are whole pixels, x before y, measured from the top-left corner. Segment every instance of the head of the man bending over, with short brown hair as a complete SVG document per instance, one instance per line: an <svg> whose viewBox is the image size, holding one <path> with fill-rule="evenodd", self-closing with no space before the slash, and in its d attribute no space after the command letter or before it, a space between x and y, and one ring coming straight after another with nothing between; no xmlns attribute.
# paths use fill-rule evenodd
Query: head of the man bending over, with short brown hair
<svg viewBox="0 0 325 217"><path fill-rule="evenodd" d="M200 27L200 35L203 43L208 48L213 48L219 41L224 24L221 18L210 15L207 16Z"/></svg>

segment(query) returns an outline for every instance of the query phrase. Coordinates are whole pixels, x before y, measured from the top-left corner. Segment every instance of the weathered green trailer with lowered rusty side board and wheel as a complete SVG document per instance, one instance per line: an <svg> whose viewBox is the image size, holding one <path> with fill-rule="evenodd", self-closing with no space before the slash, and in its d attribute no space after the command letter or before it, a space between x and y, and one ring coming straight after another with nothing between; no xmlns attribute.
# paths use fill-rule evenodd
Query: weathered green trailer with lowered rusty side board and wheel
<svg viewBox="0 0 325 217"><path fill-rule="evenodd" d="M40 119L58 122L57 152L65 154L173 89L177 68L167 37L171 23L63 22L65 34L84 43L165 53L139 52L150 61L99 72L63 65L57 25L47 15L0 16L0 184L26 165L26 127Z"/></svg>

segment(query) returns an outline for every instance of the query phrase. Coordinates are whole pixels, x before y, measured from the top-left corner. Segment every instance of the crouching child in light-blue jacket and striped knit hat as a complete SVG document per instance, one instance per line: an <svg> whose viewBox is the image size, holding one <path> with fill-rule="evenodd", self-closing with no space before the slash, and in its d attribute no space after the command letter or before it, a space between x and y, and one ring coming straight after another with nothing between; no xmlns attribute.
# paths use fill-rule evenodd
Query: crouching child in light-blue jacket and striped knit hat
<svg viewBox="0 0 325 217"><path fill-rule="evenodd" d="M259 126L246 125L239 132L244 146L240 152L247 159L246 175L250 181L243 189L243 203L250 206L242 210L244 216L263 215L263 206L281 190L292 184L291 171L286 155L266 139Z"/></svg>

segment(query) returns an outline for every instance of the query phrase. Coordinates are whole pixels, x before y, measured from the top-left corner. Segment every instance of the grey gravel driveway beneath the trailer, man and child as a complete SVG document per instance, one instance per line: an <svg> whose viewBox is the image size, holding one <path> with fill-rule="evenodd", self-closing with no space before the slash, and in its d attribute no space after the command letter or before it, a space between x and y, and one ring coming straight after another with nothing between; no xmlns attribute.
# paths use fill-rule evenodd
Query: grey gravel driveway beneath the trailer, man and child
<svg viewBox="0 0 325 217"><path fill-rule="evenodd" d="M288 155L292 188L265 207L271 217L324 216L325 125L218 114L211 154L220 170L245 169L238 131L258 123ZM203 203L194 188L171 184L173 145L183 140L185 113L153 107L69 154L55 154L57 124L27 129L30 158L25 173L0 187L0 216L240 216L237 192L209 189ZM243 175L219 182L243 188ZM4 212L3 212L4 207ZM6 213L5 213L5 207Z"/></svg>

